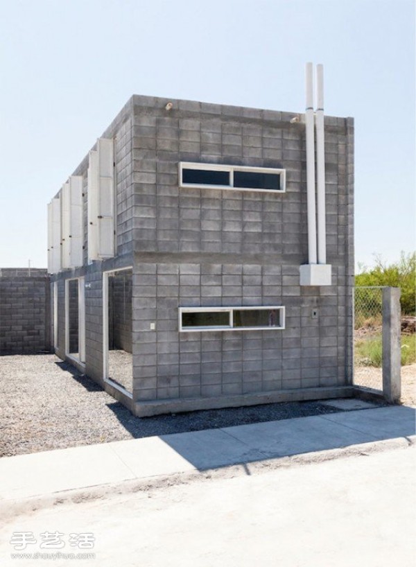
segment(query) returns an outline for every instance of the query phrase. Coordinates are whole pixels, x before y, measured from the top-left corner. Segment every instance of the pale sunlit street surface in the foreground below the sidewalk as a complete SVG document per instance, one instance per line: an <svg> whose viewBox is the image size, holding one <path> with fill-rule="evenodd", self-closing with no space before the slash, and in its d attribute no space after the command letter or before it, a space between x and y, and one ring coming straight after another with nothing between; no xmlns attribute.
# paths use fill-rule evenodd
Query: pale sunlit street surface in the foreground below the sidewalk
<svg viewBox="0 0 416 567"><path fill-rule="evenodd" d="M410 567L416 553L415 456L413 447L56 503L4 525L1 565L17 562L10 556L13 532L27 530L39 540L45 530L58 530L64 548L43 552L94 552L94 559L81 561L85 566ZM94 548L71 548L73 532L92 533ZM39 546L26 551L42 551Z"/></svg>

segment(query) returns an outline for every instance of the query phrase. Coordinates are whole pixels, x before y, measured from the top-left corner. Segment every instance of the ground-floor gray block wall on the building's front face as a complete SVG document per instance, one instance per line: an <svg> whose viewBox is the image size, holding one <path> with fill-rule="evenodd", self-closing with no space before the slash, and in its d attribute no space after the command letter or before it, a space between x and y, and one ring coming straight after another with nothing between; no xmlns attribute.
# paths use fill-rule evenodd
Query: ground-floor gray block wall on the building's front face
<svg viewBox="0 0 416 567"><path fill-rule="evenodd" d="M139 255L138 255L139 256ZM297 272L297 276L295 273ZM294 285L297 265L135 264L136 401L345 384L344 286ZM334 279L338 278L335 268ZM286 329L178 333L178 306L284 305ZM318 309L318 318L312 316ZM341 313L341 315L338 315ZM339 320L339 317L342 320ZM156 330L150 330L155 322Z"/></svg>

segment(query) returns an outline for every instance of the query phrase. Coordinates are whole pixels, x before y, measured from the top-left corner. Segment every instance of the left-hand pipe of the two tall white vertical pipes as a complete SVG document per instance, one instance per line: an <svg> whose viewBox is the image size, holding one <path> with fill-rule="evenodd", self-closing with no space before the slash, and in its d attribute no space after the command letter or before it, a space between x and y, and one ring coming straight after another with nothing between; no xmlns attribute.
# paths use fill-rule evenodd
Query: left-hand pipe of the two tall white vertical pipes
<svg viewBox="0 0 416 567"><path fill-rule="evenodd" d="M306 197L308 206L309 263L317 263L315 209L315 128L313 119L313 66L306 63Z"/></svg>

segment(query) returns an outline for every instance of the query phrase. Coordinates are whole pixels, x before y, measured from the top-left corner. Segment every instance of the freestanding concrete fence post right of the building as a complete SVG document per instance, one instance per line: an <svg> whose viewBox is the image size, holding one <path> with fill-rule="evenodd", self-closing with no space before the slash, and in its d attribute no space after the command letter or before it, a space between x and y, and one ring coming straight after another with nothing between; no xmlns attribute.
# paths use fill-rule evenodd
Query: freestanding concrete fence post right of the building
<svg viewBox="0 0 416 567"><path fill-rule="evenodd" d="M400 288L383 288L383 394L397 402L401 394Z"/></svg>

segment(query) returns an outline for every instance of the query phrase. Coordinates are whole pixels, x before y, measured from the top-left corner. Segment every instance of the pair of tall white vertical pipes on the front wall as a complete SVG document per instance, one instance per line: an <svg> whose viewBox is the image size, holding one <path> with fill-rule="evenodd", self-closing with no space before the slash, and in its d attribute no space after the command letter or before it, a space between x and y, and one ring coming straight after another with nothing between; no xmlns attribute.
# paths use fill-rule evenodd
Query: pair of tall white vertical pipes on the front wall
<svg viewBox="0 0 416 567"><path fill-rule="evenodd" d="M327 263L325 221L325 141L324 141L324 67L316 66L316 114L313 109L313 64L306 63L306 195L308 207L309 264ZM316 124L316 200L315 200L315 124ZM316 231L318 209L318 238ZM318 250L317 250L318 242Z"/></svg>

